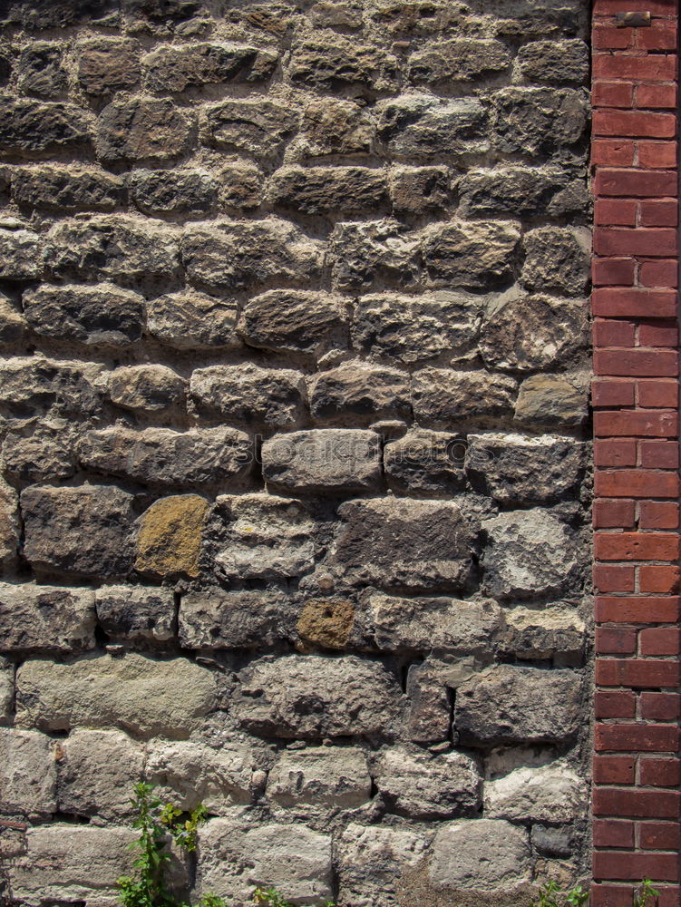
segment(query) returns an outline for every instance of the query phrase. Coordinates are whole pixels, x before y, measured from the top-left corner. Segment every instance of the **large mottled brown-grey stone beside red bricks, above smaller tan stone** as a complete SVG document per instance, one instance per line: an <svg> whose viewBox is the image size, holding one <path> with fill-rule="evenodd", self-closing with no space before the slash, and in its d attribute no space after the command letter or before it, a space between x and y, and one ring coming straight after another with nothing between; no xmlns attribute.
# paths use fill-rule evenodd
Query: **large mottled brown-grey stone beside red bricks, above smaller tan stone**
<svg viewBox="0 0 681 907"><path fill-rule="evenodd" d="M510 293L491 299L482 319L480 352L488 368L530 372L583 356L589 345L588 304Z"/></svg>

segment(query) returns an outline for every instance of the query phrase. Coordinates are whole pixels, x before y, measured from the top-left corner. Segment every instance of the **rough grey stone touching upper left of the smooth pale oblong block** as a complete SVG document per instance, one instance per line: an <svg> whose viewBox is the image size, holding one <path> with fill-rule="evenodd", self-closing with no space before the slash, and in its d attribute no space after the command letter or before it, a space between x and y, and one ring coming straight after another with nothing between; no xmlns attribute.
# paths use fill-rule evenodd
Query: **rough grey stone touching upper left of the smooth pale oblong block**
<svg viewBox="0 0 681 907"><path fill-rule="evenodd" d="M199 408L230 420L281 427L301 418L305 379L290 368L208 366L191 373L190 395Z"/></svg>

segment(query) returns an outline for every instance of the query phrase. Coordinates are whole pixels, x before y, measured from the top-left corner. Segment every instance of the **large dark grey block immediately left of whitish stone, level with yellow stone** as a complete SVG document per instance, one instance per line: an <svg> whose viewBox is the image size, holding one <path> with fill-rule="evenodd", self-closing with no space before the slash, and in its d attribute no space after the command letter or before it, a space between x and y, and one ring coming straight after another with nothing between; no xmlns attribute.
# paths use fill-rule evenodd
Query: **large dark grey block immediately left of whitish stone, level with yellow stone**
<svg viewBox="0 0 681 907"><path fill-rule="evenodd" d="M457 504L375 498L338 508L330 563L345 581L379 588L460 589L472 569L472 528Z"/></svg>

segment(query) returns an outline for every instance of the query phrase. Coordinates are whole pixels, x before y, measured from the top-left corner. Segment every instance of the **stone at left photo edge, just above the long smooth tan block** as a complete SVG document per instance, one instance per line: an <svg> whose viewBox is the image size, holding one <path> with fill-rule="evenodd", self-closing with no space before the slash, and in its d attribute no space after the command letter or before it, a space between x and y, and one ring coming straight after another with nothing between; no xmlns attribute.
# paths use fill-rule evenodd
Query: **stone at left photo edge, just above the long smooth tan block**
<svg viewBox="0 0 681 907"><path fill-rule="evenodd" d="M94 649L95 623L89 589L0 583L0 652Z"/></svg>

